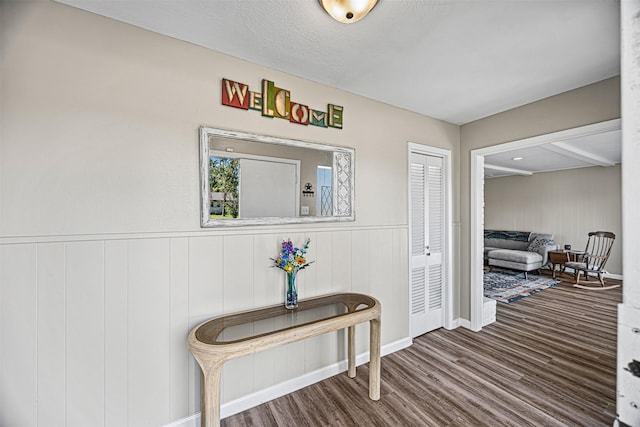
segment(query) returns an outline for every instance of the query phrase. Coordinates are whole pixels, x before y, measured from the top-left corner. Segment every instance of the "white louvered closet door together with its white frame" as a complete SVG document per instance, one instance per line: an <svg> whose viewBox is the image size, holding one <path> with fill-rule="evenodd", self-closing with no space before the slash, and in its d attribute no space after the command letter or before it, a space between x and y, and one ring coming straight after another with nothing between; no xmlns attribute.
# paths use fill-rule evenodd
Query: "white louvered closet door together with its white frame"
<svg viewBox="0 0 640 427"><path fill-rule="evenodd" d="M411 337L452 326L451 152L409 143Z"/></svg>

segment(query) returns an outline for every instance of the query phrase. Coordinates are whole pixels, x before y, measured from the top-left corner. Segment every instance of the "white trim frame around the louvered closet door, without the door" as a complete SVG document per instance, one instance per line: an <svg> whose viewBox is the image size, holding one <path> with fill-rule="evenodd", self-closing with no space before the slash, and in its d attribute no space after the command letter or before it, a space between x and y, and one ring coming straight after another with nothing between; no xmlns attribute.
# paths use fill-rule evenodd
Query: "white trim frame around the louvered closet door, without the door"
<svg viewBox="0 0 640 427"><path fill-rule="evenodd" d="M444 183L444 249L442 251L442 262L444 263L444 289L442 292L443 327L453 329L453 185L452 185L452 152L444 148L431 147L428 145L407 142L407 254L408 260L411 257L411 153L424 154L442 158L442 173ZM407 289L411 289L411 263L407 262ZM411 292L408 292L409 310L407 319L409 321L409 331L411 331ZM411 332L409 332L411 335ZM411 337L413 340L413 337Z"/></svg>

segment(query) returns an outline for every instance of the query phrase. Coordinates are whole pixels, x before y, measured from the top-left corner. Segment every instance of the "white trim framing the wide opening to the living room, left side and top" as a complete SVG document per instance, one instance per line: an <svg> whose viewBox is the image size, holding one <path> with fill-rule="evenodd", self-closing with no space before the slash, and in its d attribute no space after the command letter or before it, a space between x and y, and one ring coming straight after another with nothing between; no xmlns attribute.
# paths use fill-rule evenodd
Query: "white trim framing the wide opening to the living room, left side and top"
<svg viewBox="0 0 640 427"><path fill-rule="evenodd" d="M562 141L580 136L594 135L621 129L621 119L607 120L559 132L518 139L490 147L471 150L470 227L469 227L469 297L470 327L474 331L482 329L484 292L482 286L484 247L484 156L511 151L516 148L535 147L554 141Z"/></svg>

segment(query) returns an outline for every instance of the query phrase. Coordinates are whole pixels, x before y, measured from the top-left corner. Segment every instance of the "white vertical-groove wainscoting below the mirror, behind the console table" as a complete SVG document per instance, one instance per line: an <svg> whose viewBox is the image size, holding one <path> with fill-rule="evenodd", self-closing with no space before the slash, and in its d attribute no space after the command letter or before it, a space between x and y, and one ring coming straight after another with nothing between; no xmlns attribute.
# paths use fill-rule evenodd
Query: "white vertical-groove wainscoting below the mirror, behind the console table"
<svg viewBox="0 0 640 427"><path fill-rule="evenodd" d="M282 303L285 276L269 258L286 238L311 238L301 298L372 294L383 345L408 337L406 227L293 231L0 241L0 425L158 426L199 413L187 334L215 315ZM226 413L344 363L345 335L228 362ZM368 351L368 325L356 345Z"/></svg>

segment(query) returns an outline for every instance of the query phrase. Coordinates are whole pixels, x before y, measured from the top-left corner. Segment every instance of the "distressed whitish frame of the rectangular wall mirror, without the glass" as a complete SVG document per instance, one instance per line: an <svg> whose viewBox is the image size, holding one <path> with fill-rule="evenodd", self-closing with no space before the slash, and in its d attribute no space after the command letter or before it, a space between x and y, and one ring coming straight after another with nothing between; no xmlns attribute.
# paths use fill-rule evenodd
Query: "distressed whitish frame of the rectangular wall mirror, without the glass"
<svg viewBox="0 0 640 427"><path fill-rule="evenodd" d="M209 139L220 137L266 144L280 144L333 152L333 215L297 217L260 217L211 219L209 192ZM318 144L296 139L256 135L226 129L200 127L200 225L211 227L238 227L253 225L305 224L315 222L355 221L355 150L335 145Z"/></svg>

